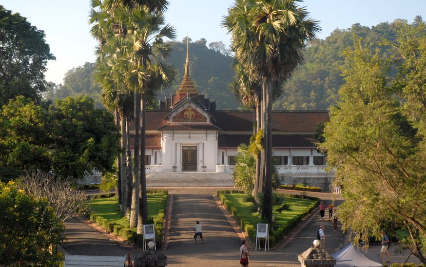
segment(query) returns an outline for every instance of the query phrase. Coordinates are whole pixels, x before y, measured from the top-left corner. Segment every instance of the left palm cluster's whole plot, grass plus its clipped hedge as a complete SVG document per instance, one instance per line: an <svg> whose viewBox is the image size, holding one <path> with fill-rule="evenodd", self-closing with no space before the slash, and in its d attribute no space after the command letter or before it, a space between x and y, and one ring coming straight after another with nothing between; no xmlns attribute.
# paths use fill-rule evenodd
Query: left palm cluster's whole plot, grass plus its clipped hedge
<svg viewBox="0 0 426 267"><path fill-rule="evenodd" d="M164 211L167 204L167 190L148 191L148 214L152 217L152 224L155 225L155 243L161 247L163 242L163 221ZM89 219L107 231L127 239L128 242L142 247L143 235L136 233L136 228L129 228L129 220L124 212L118 208L118 199L114 196L97 196L90 201L93 213Z"/></svg>

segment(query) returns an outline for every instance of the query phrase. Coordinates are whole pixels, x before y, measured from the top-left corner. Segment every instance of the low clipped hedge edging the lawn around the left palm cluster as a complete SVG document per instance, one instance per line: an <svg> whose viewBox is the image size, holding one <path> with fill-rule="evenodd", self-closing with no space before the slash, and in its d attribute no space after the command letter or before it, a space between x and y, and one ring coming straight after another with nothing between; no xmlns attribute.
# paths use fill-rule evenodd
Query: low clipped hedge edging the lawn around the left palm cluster
<svg viewBox="0 0 426 267"><path fill-rule="evenodd" d="M153 193L161 193L163 196L161 197L161 206L162 209L158 210L157 219L154 221L155 225L155 245L157 248L160 248L163 243L163 222L164 222L164 216L165 216L165 209L167 205L167 198L169 195L169 192L167 190L148 190L148 194ZM115 194L113 193L112 196L108 194L108 197L112 197ZM104 197L102 197L104 196ZM106 198L106 195L97 195L97 198ZM135 244L138 247L143 246L143 234L137 234L136 229L129 229L124 228L121 225L109 222L107 219L97 215L96 213L91 213L89 215L89 220L100 226L101 228L114 233L115 235L121 236L124 239L127 239L129 243Z"/></svg>

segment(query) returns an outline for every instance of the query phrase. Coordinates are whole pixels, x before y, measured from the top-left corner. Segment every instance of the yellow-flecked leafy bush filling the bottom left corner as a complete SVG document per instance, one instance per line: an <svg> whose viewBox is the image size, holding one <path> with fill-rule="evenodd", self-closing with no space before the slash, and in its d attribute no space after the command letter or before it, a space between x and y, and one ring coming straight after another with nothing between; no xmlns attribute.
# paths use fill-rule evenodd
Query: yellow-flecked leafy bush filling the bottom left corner
<svg viewBox="0 0 426 267"><path fill-rule="evenodd" d="M65 228L46 199L0 182L0 228L2 265L59 266L55 251Z"/></svg>

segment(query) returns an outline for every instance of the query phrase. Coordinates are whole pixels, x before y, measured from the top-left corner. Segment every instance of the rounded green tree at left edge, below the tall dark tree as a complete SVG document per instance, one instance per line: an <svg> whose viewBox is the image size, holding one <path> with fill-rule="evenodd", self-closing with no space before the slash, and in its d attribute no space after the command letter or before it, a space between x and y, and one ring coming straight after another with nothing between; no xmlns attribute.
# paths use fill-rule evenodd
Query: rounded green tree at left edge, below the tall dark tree
<svg viewBox="0 0 426 267"><path fill-rule="evenodd" d="M53 142L51 116L34 101L18 96L0 110L0 177L10 180L25 170L49 171L50 149Z"/></svg>

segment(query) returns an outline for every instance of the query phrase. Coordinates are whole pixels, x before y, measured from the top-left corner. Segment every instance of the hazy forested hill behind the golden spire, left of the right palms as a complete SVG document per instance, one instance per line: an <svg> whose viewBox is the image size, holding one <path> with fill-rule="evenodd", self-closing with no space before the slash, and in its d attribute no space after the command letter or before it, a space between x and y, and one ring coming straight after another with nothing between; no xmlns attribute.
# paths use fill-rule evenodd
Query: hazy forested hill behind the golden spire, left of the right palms
<svg viewBox="0 0 426 267"><path fill-rule="evenodd" d="M210 48L209 48L210 47ZM217 109L237 109L239 104L235 96L228 90L232 81L233 58L226 56L229 51L222 42L212 42L207 47L206 40L201 39L190 43L191 73L200 94L217 99ZM175 94L179 89L184 74L186 61L186 40L174 43L174 50L167 58L169 64L174 65L178 71L178 78L172 88L158 92L158 98L164 99L165 95ZM100 104L100 89L93 78L95 64L86 63L69 70L64 77L63 84L48 84L46 99L55 100L67 96L89 95L97 105Z"/></svg>

